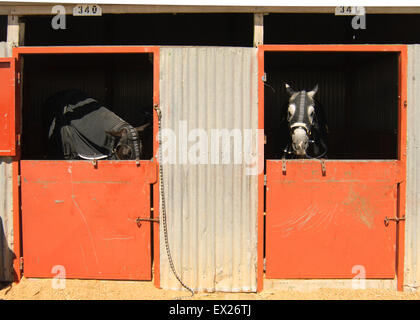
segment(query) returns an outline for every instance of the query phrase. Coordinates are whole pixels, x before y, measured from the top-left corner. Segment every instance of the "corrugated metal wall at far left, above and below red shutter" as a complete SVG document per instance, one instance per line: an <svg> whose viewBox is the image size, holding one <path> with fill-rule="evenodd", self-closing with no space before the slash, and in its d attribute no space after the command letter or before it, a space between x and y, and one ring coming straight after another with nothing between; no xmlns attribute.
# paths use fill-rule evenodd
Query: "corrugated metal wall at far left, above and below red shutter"
<svg viewBox="0 0 420 320"><path fill-rule="evenodd" d="M0 57L10 57L10 44L0 42ZM13 170L9 157L0 157L0 281L13 281Z"/></svg>

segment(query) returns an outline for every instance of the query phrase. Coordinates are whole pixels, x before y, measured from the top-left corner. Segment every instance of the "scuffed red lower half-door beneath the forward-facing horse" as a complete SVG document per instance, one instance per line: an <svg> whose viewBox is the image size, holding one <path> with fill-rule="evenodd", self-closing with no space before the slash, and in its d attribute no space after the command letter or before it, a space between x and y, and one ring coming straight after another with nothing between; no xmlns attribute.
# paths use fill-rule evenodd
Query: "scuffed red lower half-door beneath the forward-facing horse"
<svg viewBox="0 0 420 320"><path fill-rule="evenodd" d="M397 161L267 161L267 278L395 277Z"/></svg>

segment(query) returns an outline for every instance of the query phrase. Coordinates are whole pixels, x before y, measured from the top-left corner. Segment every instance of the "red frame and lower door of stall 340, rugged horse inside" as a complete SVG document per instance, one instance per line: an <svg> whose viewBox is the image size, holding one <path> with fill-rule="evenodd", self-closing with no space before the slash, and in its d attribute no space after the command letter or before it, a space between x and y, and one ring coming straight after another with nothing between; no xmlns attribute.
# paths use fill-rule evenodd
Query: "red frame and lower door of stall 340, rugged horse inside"
<svg viewBox="0 0 420 320"><path fill-rule="evenodd" d="M17 61L33 54L151 54L153 103L159 103L157 47L18 47L13 52ZM153 137L157 128L154 114ZM153 150L154 154L158 150L155 139ZM20 163L20 172L15 173L20 174L20 197L14 201L17 212L14 218L21 219L21 229L19 223L15 224L15 233L21 231L21 237L16 236L15 241L22 248L22 254L16 255L23 257L26 277L52 278L58 274L79 279L152 279L152 241L156 248L159 235L157 223L153 223L159 213L157 209L153 213L151 210L152 198L153 207L158 207L156 159L139 163L111 160L96 164L86 160L16 163ZM159 256L157 251L155 256Z"/></svg>

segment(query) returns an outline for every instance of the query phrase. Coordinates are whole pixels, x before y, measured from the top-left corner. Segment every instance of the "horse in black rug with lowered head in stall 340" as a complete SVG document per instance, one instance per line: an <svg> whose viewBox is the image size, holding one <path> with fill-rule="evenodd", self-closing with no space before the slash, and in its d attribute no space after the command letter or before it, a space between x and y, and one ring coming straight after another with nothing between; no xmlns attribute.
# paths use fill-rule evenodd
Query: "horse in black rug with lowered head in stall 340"
<svg viewBox="0 0 420 320"><path fill-rule="evenodd" d="M140 159L140 132L79 90L50 97L45 105L50 159Z"/></svg>

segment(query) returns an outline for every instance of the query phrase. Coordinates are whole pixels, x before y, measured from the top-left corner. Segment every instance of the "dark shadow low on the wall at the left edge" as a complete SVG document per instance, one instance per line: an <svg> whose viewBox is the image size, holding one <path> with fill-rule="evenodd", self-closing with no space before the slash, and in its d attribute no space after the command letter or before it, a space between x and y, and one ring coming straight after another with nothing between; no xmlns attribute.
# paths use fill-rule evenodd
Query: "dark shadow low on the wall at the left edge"
<svg viewBox="0 0 420 320"><path fill-rule="evenodd" d="M0 217L0 290L9 286L14 279L17 278L16 272L13 269L13 260L16 259L15 253L10 250L4 228L3 220ZM8 274L8 272L12 272Z"/></svg>

